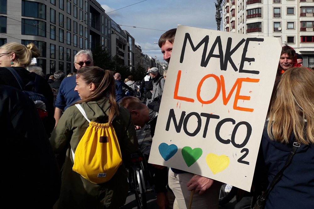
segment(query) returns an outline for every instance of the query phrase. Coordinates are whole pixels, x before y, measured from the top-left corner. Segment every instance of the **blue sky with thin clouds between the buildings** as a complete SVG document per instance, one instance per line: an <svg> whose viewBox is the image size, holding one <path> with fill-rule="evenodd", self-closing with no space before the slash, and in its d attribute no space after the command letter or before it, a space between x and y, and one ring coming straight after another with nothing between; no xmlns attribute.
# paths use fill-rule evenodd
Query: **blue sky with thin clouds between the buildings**
<svg viewBox="0 0 314 209"><path fill-rule="evenodd" d="M138 3L142 0L98 0L106 13ZM215 21L216 0L147 0L133 6L108 13L117 24L169 30L178 24L204 29L217 29ZM140 45L143 53L157 56L157 60L164 61L158 43L160 35L165 31L139 29L120 26L127 30Z"/></svg>

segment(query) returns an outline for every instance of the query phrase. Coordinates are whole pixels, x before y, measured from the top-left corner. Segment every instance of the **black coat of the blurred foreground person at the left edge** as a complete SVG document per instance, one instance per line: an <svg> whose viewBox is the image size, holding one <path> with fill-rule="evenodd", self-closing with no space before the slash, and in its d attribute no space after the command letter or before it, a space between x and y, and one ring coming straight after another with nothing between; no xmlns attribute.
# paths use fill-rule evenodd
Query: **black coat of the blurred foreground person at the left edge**
<svg viewBox="0 0 314 209"><path fill-rule="evenodd" d="M0 120L2 204L52 208L61 176L34 103L22 91L0 85Z"/></svg>

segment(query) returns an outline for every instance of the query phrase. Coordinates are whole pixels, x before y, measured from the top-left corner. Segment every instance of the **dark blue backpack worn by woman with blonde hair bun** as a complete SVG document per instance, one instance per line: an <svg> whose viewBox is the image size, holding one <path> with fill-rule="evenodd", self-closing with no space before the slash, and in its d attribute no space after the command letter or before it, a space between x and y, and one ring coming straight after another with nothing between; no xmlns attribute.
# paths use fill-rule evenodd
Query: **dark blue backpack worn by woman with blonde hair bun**
<svg viewBox="0 0 314 209"><path fill-rule="evenodd" d="M21 90L23 91L23 93L30 98L31 101L34 102L35 107L37 108L37 111L39 113L39 116L41 117L41 120L43 120L44 118L46 118L48 112L50 112L50 106L48 104L48 100L46 99L46 97L44 97L44 95L37 93L38 89L39 89L39 83L40 83L40 75L36 74L35 77L35 82L34 81L30 81L26 86L24 85L23 79L21 78L21 76L19 76L19 74L16 72L16 70L12 67L6 67L9 71L11 71L11 73L13 74L13 76L15 77L15 79L18 81L19 86L21 87ZM31 91L27 91L25 89L27 89L28 87L33 87Z"/></svg>

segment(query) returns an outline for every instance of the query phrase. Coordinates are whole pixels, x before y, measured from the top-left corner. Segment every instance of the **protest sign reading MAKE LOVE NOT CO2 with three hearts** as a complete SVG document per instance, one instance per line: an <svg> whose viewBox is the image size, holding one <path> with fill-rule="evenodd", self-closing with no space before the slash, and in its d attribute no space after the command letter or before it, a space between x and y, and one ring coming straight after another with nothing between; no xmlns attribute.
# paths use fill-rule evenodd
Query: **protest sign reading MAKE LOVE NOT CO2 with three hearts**
<svg viewBox="0 0 314 209"><path fill-rule="evenodd" d="M250 191L281 41L179 25L149 163Z"/></svg>

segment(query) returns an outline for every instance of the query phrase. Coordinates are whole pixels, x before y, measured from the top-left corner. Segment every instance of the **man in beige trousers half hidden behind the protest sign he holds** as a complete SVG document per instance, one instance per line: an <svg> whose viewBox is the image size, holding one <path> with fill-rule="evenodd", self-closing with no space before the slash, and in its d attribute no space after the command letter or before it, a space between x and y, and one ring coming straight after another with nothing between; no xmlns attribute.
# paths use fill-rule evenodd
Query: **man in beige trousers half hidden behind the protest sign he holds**
<svg viewBox="0 0 314 209"><path fill-rule="evenodd" d="M171 29L161 35L159 47L164 60L170 61L176 29ZM218 208L220 182L194 175L192 173L169 169L168 183L176 196L178 206L186 208L189 204L190 194L195 189L192 208ZM204 193L204 194L203 194Z"/></svg>

